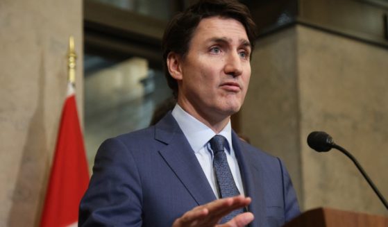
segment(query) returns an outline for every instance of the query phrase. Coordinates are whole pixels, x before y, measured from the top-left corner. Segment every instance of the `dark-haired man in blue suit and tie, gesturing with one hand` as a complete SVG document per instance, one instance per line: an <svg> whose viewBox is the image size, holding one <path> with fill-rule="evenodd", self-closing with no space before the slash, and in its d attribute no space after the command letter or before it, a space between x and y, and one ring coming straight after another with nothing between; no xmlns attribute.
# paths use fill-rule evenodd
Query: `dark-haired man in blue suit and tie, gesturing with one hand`
<svg viewBox="0 0 388 227"><path fill-rule="evenodd" d="M230 127L254 42L238 1L199 1L171 20L162 46L177 105L155 126L101 144L80 226L282 226L299 214L282 161Z"/></svg>

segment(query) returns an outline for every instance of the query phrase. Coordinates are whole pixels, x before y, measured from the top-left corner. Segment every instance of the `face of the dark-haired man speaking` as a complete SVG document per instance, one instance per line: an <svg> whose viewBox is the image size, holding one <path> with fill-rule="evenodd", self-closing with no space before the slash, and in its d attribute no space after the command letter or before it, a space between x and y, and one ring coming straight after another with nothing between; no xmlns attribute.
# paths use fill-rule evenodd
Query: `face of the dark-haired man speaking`
<svg viewBox="0 0 388 227"><path fill-rule="evenodd" d="M206 121L226 119L244 102L251 76L251 45L235 19L208 17L194 31L185 58L173 75L178 103Z"/></svg>

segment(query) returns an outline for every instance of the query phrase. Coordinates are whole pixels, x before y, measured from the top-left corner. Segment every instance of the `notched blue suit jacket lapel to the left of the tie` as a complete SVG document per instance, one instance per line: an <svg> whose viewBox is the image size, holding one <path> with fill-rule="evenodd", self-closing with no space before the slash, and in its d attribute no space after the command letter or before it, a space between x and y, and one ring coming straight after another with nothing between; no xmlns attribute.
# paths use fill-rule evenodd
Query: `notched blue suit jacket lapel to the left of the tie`
<svg viewBox="0 0 388 227"><path fill-rule="evenodd" d="M159 153L198 205L216 198L198 159L171 112L155 126L155 140L165 143Z"/></svg>

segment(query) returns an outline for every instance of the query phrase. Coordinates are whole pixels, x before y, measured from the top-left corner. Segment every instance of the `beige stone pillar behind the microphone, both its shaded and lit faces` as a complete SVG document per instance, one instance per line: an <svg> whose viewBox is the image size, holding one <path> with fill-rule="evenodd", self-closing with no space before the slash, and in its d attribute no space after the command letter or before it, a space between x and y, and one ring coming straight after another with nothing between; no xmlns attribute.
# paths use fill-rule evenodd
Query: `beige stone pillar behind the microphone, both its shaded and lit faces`
<svg viewBox="0 0 388 227"><path fill-rule="evenodd" d="M303 210L386 215L351 160L335 150L316 153L306 138L332 135L388 196L388 50L301 25L256 45L242 132L285 160Z"/></svg>

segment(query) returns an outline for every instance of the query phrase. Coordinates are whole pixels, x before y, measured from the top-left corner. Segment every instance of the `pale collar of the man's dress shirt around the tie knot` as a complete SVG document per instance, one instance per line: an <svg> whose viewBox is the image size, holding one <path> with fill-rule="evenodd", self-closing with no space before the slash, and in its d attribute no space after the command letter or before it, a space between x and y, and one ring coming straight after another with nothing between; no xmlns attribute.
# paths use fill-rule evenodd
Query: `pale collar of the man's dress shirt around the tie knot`
<svg viewBox="0 0 388 227"><path fill-rule="evenodd" d="M180 129L183 131L183 134L185 134L185 137L195 153L203 148L203 146L216 135L211 128L183 110L178 104L176 104L171 114L178 122ZM228 140L229 146L227 147L227 150L230 152L230 147L232 147L232 126L230 120L219 135L223 135L223 137L226 137L226 140Z"/></svg>

